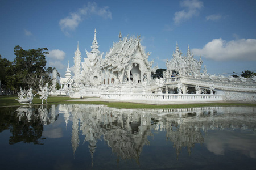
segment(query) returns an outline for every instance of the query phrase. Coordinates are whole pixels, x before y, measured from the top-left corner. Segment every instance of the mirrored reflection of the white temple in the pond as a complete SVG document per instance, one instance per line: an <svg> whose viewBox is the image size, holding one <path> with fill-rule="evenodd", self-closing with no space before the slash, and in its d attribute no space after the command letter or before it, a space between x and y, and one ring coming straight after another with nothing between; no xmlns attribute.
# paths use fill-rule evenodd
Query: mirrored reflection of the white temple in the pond
<svg viewBox="0 0 256 170"><path fill-rule="evenodd" d="M135 159L144 145L150 145L148 137L154 132L165 131L166 139L174 143L177 156L186 147L190 154L196 143L204 143L207 130L254 129L255 117L248 119L244 109L239 107L205 107L191 109L115 109L102 105L60 105L66 125L72 122L72 148L75 154L79 146L79 131L85 135L92 156L96 152L97 141L103 137L117 154L117 158ZM247 113L255 113L247 108ZM236 113L236 117L233 117ZM153 131L153 133L152 133ZM83 143L84 143L83 142Z"/></svg>

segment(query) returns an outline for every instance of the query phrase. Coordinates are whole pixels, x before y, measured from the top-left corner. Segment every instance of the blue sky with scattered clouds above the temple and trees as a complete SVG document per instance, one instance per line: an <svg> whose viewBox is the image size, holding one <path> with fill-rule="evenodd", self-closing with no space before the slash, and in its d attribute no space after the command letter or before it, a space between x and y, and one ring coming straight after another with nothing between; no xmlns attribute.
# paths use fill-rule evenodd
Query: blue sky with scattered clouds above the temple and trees
<svg viewBox="0 0 256 170"><path fill-rule="evenodd" d="M14 47L48 48L47 66L64 76L74 52L90 51L94 29L100 52L113 41L141 35L149 60L166 68L176 42L201 56L212 74L256 72L256 1L0 1L0 55L13 61Z"/></svg>

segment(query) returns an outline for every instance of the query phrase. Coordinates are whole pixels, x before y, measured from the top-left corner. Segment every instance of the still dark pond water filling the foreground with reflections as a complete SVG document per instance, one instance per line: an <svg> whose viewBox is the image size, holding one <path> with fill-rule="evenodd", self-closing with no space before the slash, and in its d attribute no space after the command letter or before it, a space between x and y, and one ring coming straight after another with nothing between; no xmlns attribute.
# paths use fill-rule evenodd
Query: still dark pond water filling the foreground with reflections
<svg viewBox="0 0 256 170"><path fill-rule="evenodd" d="M256 169L256 108L0 108L1 169Z"/></svg>

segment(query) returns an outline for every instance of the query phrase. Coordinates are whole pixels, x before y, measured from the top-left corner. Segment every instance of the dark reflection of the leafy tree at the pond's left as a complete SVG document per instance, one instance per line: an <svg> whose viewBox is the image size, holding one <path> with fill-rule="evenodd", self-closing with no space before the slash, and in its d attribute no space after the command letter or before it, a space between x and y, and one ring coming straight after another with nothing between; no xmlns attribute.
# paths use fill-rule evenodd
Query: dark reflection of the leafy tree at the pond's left
<svg viewBox="0 0 256 170"><path fill-rule="evenodd" d="M5 118L0 119L1 124L8 127L7 129L10 129L12 134L9 143L15 144L18 142L24 142L39 145L43 144L43 125L57 120L56 116L49 114L51 113L51 108L42 105L34 107L19 107L15 109L16 111L10 109L9 112L5 112ZM3 110L1 109L1 111Z"/></svg>

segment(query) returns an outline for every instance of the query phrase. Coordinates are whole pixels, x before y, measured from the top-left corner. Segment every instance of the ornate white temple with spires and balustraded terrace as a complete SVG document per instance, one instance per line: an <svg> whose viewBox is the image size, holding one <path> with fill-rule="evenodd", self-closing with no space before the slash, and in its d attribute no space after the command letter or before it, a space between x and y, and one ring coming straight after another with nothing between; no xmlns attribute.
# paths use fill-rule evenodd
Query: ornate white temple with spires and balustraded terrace
<svg viewBox="0 0 256 170"><path fill-rule="evenodd" d="M207 73L201 69L203 60L197 61L187 50L183 56L178 44L163 78L152 79L157 67L148 61L151 53L146 53L140 36L123 37L105 54L98 48L96 29L91 51L81 58L79 45L74 56L74 76L71 78L69 66L65 78L60 79L59 93L71 98L96 96L118 100L158 100L158 101L256 101L256 78L233 78ZM203 71L201 71L203 70Z"/></svg>

